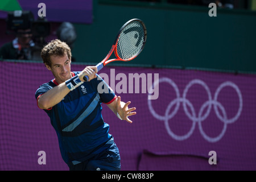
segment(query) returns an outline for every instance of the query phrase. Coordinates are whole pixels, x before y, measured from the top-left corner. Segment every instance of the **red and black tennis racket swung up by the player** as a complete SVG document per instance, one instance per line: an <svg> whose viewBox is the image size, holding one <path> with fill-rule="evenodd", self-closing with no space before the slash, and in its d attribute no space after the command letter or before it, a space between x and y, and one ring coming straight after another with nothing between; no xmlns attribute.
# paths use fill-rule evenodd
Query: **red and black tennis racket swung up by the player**
<svg viewBox="0 0 256 182"><path fill-rule="evenodd" d="M140 19L131 19L126 22L119 30L114 44L108 55L100 63L96 65L100 71L106 64L113 61L130 61L141 53L147 39L147 29ZM116 59L109 59L114 51ZM88 81L89 77L83 77L84 81Z"/></svg>

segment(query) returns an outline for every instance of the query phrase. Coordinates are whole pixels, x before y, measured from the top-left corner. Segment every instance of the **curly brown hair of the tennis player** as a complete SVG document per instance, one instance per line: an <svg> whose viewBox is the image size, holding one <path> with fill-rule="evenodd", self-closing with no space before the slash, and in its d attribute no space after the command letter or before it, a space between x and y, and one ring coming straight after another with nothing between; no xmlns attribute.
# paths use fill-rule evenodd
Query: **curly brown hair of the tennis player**
<svg viewBox="0 0 256 182"><path fill-rule="evenodd" d="M43 63L51 67L51 56L64 56L68 55L68 59L71 60L71 48L65 42L61 42L59 39L51 40L41 51L41 57Z"/></svg>

